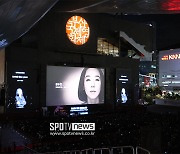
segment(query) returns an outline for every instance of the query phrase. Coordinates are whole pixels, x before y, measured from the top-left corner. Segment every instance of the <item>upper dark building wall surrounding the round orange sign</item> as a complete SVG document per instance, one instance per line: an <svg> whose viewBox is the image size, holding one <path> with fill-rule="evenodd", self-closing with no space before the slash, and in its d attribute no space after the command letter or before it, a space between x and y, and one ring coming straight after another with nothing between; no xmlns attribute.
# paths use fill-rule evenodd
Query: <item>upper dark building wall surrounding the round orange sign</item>
<svg viewBox="0 0 180 154"><path fill-rule="evenodd" d="M71 43L66 35L65 27L68 19L73 15L79 15L86 19L90 26L89 41L81 46ZM143 23L136 23L121 19L119 16L109 14L73 14L51 11L38 25L39 47L46 50L59 52L96 53L97 38L106 38L110 43L118 44L119 32L125 32L138 44L144 45L149 52L154 50L153 27Z"/></svg>

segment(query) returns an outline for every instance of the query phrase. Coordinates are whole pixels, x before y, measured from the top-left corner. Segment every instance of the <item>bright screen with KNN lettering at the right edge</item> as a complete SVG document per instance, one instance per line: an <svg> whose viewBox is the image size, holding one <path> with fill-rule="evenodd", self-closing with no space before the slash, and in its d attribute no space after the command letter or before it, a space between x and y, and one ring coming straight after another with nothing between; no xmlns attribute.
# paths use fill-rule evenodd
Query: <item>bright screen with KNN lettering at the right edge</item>
<svg viewBox="0 0 180 154"><path fill-rule="evenodd" d="M180 49L159 52L159 85L180 86Z"/></svg>

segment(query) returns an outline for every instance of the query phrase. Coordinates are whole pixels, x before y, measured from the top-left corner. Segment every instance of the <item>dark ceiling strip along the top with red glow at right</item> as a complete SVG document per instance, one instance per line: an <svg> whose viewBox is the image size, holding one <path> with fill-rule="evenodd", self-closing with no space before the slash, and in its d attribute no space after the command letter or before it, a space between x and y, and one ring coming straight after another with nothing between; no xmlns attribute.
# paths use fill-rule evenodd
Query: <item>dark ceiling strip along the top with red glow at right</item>
<svg viewBox="0 0 180 154"><path fill-rule="evenodd" d="M81 13L180 13L179 0L60 0L60 11Z"/></svg>

